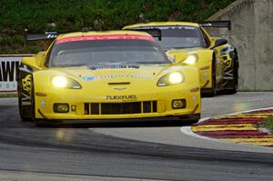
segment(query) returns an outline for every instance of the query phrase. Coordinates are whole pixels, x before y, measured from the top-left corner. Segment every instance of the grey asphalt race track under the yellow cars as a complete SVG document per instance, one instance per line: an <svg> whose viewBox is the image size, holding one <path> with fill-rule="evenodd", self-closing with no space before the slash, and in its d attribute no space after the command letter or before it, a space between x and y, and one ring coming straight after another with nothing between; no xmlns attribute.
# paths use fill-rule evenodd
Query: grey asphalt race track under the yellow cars
<svg viewBox="0 0 273 181"><path fill-rule="evenodd" d="M202 102L202 116L219 116L273 106L273 93ZM270 147L201 139L174 123L36 128L20 121L16 104L0 100L1 181L273 180Z"/></svg>

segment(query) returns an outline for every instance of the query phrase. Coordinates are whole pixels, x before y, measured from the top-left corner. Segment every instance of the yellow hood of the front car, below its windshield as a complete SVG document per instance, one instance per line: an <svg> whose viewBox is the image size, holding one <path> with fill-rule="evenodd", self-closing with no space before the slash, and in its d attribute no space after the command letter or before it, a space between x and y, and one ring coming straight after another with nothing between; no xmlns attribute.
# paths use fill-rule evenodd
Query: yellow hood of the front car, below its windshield
<svg viewBox="0 0 273 181"><path fill-rule="evenodd" d="M69 68L55 68L57 75L69 75L79 82L146 82L155 81L162 75L181 69L180 65L93 65ZM99 80L99 81L98 81Z"/></svg>

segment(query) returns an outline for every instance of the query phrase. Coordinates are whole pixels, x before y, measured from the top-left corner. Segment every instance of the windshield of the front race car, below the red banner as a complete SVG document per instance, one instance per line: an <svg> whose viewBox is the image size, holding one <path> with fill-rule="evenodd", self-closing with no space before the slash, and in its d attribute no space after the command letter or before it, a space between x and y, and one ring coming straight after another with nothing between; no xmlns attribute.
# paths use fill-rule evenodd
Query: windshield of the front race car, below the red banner
<svg viewBox="0 0 273 181"><path fill-rule="evenodd" d="M104 64L169 64L160 46L147 40L96 40L56 44L49 67Z"/></svg>

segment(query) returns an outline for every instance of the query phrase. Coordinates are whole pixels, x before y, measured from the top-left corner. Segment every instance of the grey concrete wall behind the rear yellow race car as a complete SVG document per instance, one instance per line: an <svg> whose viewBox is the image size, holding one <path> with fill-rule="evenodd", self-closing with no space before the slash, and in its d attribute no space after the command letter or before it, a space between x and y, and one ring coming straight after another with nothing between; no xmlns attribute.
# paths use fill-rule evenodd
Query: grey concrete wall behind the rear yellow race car
<svg viewBox="0 0 273 181"><path fill-rule="evenodd" d="M239 89L273 90L273 0L238 0L208 20L231 20L208 31L238 48Z"/></svg>

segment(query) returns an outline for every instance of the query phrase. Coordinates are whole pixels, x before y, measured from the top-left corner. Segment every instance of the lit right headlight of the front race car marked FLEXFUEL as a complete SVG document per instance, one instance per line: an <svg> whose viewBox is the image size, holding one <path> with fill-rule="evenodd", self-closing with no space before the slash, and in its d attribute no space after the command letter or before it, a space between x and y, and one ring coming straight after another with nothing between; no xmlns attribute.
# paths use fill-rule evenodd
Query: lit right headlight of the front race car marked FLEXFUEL
<svg viewBox="0 0 273 181"><path fill-rule="evenodd" d="M167 75L163 75L157 82L158 86L177 85L184 81L184 75L180 72L172 72Z"/></svg>

